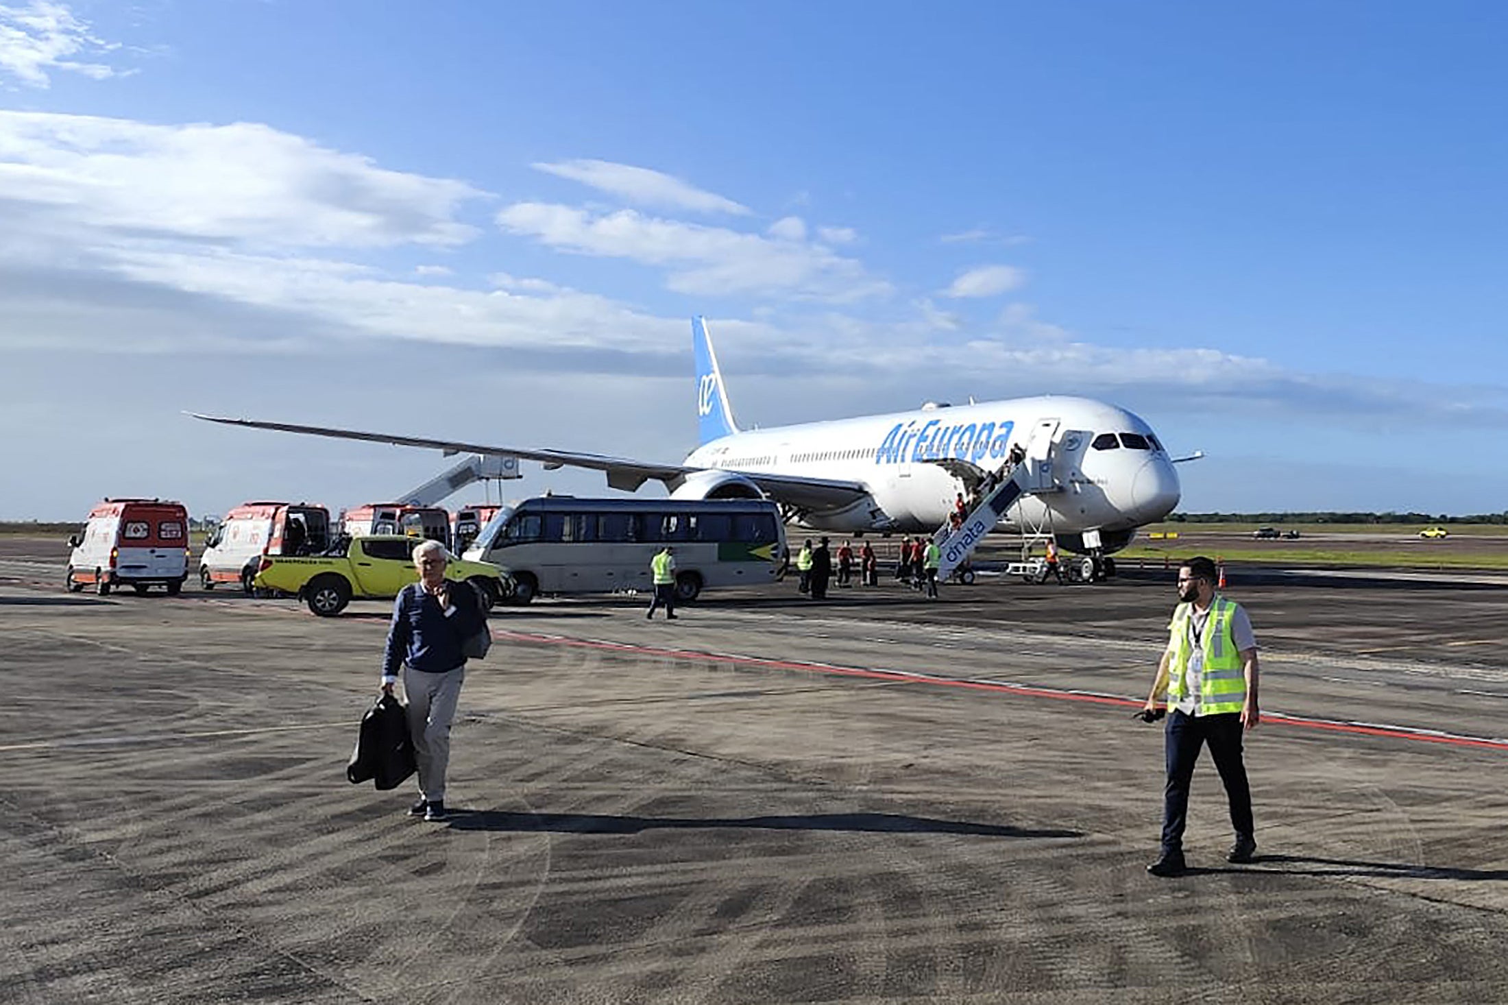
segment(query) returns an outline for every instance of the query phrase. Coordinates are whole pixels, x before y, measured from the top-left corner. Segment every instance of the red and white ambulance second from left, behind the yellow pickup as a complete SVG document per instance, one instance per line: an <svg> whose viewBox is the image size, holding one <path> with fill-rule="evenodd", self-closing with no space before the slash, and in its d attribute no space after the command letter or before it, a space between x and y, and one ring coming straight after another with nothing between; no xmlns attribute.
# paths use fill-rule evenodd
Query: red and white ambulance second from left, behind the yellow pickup
<svg viewBox="0 0 1508 1005"><path fill-rule="evenodd" d="M241 502L204 543L199 585L252 592L262 555L317 555L330 546L330 512L312 502Z"/></svg>

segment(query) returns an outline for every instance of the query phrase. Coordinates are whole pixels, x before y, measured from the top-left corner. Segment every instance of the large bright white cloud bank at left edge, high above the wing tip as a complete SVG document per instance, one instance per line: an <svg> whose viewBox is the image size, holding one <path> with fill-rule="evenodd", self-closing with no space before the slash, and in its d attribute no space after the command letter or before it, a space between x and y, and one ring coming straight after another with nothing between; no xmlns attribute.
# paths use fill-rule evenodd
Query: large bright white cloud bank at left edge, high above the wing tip
<svg viewBox="0 0 1508 1005"><path fill-rule="evenodd" d="M0 110L0 199L54 225L271 247L458 244L484 193L267 125L148 125Z"/></svg>

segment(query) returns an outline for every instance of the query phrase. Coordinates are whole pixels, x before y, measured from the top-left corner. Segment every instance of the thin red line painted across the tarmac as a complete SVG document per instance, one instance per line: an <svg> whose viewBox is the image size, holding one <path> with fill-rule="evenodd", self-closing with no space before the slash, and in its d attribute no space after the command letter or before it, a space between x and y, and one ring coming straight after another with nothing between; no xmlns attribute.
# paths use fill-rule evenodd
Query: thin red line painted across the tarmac
<svg viewBox="0 0 1508 1005"><path fill-rule="evenodd" d="M743 656L736 653L694 652L689 649L661 649L657 646L636 646L632 643L600 641L591 638L569 638L566 635L538 635L534 632L516 632L495 629L493 638L505 638L520 643L541 646L570 646L573 649L602 649L608 652L624 652L641 656L667 656L670 659L710 659L713 662L730 662L771 670L798 670L802 673L828 673L840 678L863 678L869 681L893 681L897 684L930 684L946 688L967 688L971 691L994 691L997 694L1019 694L1022 697L1053 699L1059 702L1087 702L1090 705L1117 705L1120 708L1142 708L1145 702L1120 697L1117 694L1099 694L1095 691L1074 691L1069 688L1048 688L1030 684L1004 684L1000 681L971 681L967 678L946 678L930 673L911 673L905 670L876 670L869 667L840 667L828 662L801 662L796 659L771 659L768 656ZM1354 733L1360 736L1381 736L1387 739L1411 739L1427 744L1448 744L1452 747L1476 747L1479 750L1499 750L1508 753L1508 739L1493 739L1487 736L1464 736L1445 733L1440 730L1416 729L1411 726L1389 726L1374 723L1345 723L1327 718L1310 718L1307 715L1289 715L1288 712L1262 712L1264 723L1277 726L1300 726L1304 729L1321 729L1336 733Z"/></svg>

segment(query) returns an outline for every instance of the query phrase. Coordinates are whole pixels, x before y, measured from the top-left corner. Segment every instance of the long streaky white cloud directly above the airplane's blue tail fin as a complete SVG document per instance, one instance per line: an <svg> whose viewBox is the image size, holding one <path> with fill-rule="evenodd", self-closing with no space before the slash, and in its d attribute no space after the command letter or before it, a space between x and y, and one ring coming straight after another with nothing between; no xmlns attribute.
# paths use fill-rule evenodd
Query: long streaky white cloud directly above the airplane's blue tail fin
<svg viewBox="0 0 1508 1005"><path fill-rule="evenodd" d="M890 284L870 276L857 260L822 244L648 217L635 210L594 213L517 202L498 214L498 225L558 250L671 266L667 285L677 293L786 294L843 303L890 291Z"/></svg>

